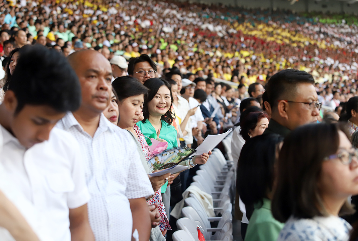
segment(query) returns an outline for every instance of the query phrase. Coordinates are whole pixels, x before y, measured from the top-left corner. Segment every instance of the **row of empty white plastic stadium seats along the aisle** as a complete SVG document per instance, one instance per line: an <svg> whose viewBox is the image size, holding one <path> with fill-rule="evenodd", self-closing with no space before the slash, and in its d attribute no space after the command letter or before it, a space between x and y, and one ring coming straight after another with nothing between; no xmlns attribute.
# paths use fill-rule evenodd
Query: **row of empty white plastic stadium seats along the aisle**
<svg viewBox="0 0 358 241"><path fill-rule="evenodd" d="M205 240L232 241L232 203L230 186L234 178L232 161L225 160L218 149L213 150L206 164L200 166L191 185L197 186L213 197L216 217L208 217L203 205L193 194L184 200L183 218L178 219L178 231L173 233L174 241L198 241L197 227L200 227ZM216 222L216 227L212 227Z"/></svg>

